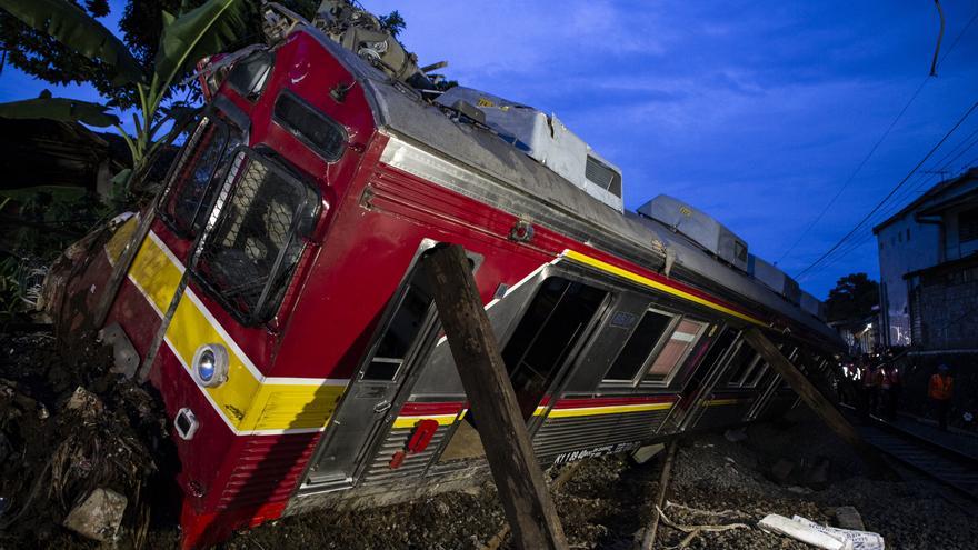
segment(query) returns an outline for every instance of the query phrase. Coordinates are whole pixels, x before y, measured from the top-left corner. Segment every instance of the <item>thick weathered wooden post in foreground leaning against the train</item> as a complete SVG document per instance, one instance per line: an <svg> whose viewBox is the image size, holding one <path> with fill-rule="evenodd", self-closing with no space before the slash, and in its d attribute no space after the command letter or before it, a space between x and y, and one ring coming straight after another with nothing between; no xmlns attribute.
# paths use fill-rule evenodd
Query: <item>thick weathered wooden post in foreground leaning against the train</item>
<svg viewBox="0 0 978 550"><path fill-rule="evenodd" d="M527 550L566 549L563 528L465 250L458 244L439 247L423 262L513 541Z"/></svg>

